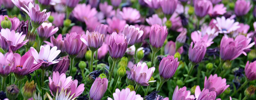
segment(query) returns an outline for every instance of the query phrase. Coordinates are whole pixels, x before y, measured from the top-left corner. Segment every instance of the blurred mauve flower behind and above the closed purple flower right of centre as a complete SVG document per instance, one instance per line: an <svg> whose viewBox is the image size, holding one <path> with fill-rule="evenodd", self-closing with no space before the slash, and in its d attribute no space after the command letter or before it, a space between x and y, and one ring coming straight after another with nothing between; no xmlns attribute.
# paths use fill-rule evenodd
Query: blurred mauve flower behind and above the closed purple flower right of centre
<svg viewBox="0 0 256 100"><path fill-rule="evenodd" d="M175 42L173 41L167 42L167 44L165 45L165 54L174 55L176 52L179 52L181 54L183 52L183 46L178 48L178 50L176 51Z"/></svg>

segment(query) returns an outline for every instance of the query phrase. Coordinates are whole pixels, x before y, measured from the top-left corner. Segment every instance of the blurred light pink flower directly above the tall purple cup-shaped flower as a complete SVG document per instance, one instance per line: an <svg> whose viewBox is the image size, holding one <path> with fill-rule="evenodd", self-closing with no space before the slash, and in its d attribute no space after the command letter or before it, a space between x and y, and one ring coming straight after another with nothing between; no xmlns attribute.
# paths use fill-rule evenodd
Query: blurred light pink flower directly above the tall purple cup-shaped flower
<svg viewBox="0 0 256 100"><path fill-rule="evenodd" d="M146 22L149 25L154 25L154 24L158 24L158 25L165 25L165 22L167 21L167 18L159 18L157 14L152 15L152 17L146 18Z"/></svg>

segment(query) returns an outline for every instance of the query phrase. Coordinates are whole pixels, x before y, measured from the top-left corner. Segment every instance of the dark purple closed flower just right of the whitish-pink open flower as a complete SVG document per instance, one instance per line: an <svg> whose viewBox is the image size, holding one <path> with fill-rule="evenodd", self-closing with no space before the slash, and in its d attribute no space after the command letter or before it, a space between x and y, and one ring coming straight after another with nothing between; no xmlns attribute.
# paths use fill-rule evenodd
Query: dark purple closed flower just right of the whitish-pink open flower
<svg viewBox="0 0 256 100"><path fill-rule="evenodd" d="M70 64L70 60L67 56L63 57L57 64L55 64L52 68L54 72L66 73Z"/></svg>

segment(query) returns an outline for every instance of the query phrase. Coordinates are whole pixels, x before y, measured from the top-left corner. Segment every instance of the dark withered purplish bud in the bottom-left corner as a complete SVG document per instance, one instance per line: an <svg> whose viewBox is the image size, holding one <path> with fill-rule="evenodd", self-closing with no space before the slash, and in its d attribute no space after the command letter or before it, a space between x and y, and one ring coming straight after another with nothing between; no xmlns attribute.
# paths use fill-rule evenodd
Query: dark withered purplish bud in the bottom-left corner
<svg viewBox="0 0 256 100"><path fill-rule="evenodd" d="M15 84L6 87L6 97L9 100L16 100L16 98L18 97L18 92L19 89Z"/></svg>

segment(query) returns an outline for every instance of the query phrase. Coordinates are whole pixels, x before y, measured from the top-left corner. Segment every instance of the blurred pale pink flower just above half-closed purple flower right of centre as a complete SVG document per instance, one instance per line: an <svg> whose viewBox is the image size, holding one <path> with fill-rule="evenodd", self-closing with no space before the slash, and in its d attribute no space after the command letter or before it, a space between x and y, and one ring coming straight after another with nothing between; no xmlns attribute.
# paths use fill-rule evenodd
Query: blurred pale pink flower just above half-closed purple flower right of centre
<svg viewBox="0 0 256 100"><path fill-rule="evenodd" d="M207 34L203 36L199 30L191 33L191 39L194 43L204 42L206 44L206 47L211 46L213 43L213 38L209 38Z"/></svg>

